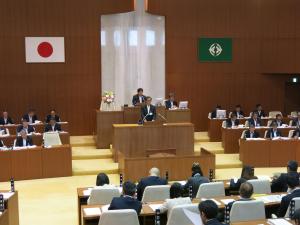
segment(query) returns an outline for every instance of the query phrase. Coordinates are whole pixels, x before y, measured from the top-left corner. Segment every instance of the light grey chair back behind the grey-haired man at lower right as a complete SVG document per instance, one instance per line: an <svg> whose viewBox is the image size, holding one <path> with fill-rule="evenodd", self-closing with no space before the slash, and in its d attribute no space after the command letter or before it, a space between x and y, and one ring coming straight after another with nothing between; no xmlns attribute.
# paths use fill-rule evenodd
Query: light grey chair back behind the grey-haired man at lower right
<svg viewBox="0 0 300 225"><path fill-rule="evenodd" d="M230 210L230 223L263 220L265 218L265 204L259 200L236 201Z"/></svg>

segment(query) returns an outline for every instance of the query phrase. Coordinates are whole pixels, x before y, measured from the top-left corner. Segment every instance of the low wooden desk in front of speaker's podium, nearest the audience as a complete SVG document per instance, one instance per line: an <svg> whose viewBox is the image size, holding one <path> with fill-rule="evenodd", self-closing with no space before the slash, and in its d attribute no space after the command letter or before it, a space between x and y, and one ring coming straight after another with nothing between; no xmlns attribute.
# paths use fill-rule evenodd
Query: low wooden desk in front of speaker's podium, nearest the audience
<svg viewBox="0 0 300 225"><path fill-rule="evenodd" d="M190 155L177 155L170 157L140 157L127 158L119 152L119 171L124 180L139 181L141 177L147 177L152 167L157 167L162 174L168 171L169 180L186 180L191 175L191 165L198 162L202 165L202 171L209 177L209 170L215 170L215 155L202 149L201 153ZM180 165L180 166L178 166Z"/></svg>

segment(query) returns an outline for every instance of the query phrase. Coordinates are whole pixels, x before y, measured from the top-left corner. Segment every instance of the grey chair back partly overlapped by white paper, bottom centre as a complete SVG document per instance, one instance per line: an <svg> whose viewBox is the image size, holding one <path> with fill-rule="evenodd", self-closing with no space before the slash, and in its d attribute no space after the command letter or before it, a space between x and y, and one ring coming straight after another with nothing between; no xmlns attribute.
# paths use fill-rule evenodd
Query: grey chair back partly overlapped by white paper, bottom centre
<svg viewBox="0 0 300 225"><path fill-rule="evenodd" d="M198 204L186 204L175 206L168 217L167 225L191 225L192 221L186 216L185 210L188 210L192 213L200 213L198 210Z"/></svg>

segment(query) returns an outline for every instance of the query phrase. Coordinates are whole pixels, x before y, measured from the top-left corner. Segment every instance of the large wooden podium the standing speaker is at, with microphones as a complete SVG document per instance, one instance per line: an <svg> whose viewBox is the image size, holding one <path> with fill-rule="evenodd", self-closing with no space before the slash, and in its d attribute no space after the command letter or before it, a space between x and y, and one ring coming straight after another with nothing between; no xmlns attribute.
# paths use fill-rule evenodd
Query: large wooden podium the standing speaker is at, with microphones
<svg viewBox="0 0 300 225"><path fill-rule="evenodd" d="M164 125L114 124L113 154L124 157L145 157L147 149L176 149L177 155L194 153L194 125L169 123Z"/></svg>

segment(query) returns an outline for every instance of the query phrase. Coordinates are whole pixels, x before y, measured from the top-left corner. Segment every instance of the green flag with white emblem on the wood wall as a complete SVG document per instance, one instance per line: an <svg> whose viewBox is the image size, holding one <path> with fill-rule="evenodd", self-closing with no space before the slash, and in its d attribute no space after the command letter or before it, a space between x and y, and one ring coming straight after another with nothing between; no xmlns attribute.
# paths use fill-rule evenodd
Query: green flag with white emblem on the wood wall
<svg viewBox="0 0 300 225"><path fill-rule="evenodd" d="M200 62L231 62L231 38L199 38L198 58Z"/></svg>

